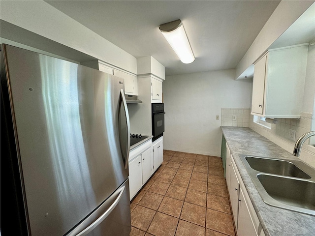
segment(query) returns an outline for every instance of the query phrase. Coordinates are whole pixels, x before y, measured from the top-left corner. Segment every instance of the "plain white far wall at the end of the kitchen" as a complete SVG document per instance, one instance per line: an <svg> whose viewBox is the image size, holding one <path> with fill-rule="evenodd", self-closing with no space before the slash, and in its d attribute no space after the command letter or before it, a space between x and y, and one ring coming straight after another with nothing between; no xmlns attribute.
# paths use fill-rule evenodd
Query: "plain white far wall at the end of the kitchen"
<svg viewBox="0 0 315 236"><path fill-rule="evenodd" d="M166 77L164 149L220 156L221 108L248 108L252 96L252 80L234 77L234 69Z"/></svg>

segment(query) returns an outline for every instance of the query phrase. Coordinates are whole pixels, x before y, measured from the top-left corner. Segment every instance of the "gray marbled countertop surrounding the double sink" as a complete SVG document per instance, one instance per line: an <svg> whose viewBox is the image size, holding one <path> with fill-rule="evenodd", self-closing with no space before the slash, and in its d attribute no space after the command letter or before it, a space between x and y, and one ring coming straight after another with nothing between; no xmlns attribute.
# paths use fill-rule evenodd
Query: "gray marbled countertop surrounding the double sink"
<svg viewBox="0 0 315 236"><path fill-rule="evenodd" d="M313 236L315 216L298 213L265 204L251 177L247 173L239 154L301 159L256 133L248 127L221 126L226 143L235 160L246 190L251 198L262 229L266 236ZM292 150L293 151L293 150Z"/></svg>

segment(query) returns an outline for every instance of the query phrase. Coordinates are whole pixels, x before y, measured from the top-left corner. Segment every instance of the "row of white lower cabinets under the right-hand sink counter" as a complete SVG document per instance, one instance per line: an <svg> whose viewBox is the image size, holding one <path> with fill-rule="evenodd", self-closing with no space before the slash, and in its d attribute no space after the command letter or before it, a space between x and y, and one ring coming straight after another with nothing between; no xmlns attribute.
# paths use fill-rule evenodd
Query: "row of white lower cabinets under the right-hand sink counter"
<svg viewBox="0 0 315 236"><path fill-rule="evenodd" d="M246 191L233 155L226 145L227 189L238 236L265 236L251 199Z"/></svg>

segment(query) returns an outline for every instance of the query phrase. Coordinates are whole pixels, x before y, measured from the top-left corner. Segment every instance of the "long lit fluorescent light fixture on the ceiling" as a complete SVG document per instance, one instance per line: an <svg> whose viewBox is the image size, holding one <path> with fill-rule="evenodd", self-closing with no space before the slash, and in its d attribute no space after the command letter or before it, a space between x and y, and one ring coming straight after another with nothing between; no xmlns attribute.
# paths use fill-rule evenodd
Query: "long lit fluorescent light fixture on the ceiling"
<svg viewBox="0 0 315 236"><path fill-rule="evenodd" d="M195 60L181 20L162 24L158 29L183 63L189 64Z"/></svg>

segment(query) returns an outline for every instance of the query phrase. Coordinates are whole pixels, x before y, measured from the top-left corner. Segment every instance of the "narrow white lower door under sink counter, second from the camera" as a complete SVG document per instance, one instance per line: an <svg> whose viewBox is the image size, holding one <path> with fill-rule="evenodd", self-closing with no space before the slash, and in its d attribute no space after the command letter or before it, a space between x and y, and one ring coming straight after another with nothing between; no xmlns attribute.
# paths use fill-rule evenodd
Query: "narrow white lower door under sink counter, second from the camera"
<svg viewBox="0 0 315 236"><path fill-rule="evenodd" d="M231 181L230 182L230 200L231 200L232 212L234 216L235 227L237 229L238 198L239 198L240 183L237 179L233 163L231 166L232 166L232 169L231 169L231 180L230 180Z"/></svg>

